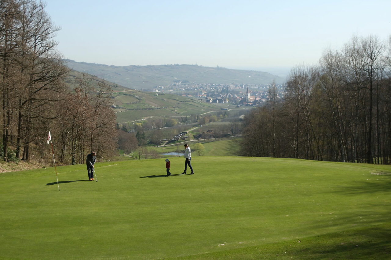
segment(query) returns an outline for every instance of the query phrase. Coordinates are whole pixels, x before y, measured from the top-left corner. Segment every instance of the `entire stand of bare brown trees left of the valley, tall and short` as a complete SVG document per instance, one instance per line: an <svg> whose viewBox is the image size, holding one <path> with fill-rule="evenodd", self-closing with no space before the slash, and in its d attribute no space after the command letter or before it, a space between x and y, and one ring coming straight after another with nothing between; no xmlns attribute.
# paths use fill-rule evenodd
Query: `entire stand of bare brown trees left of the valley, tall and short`
<svg viewBox="0 0 391 260"><path fill-rule="evenodd" d="M54 41L58 30L43 2L0 1L0 155L5 161L50 158L49 130L60 162L80 163L90 150L104 155L116 147L111 89L91 84L86 76L68 89L69 69Z"/></svg>

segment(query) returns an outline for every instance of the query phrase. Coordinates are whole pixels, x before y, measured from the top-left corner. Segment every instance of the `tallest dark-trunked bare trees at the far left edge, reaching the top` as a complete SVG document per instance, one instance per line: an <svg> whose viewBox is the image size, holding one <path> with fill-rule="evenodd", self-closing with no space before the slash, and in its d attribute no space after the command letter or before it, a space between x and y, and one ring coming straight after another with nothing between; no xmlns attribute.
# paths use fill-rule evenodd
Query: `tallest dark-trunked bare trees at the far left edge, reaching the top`
<svg viewBox="0 0 391 260"><path fill-rule="evenodd" d="M29 160L30 142L36 140L42 123L53 117L43 109L58 100L53 92L63 91L61 77L68 71L55 50L53 37L58 28L44 8L34 0L0 3L3 143L6 151L11 137L16 157L23 147L25 160Z"/></svg>

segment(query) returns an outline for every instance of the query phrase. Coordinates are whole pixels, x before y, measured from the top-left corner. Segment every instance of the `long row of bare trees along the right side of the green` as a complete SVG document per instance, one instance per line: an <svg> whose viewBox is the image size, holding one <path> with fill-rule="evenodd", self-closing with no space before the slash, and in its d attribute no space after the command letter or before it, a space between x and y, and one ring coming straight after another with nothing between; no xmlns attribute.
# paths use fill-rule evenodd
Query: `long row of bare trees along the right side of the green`
<svg viewBox="0 0 391 260"><path fill-rule="evenodd" d="M354 36L291 69L244 119L242 155L391 163L391 37Z"/></svg>

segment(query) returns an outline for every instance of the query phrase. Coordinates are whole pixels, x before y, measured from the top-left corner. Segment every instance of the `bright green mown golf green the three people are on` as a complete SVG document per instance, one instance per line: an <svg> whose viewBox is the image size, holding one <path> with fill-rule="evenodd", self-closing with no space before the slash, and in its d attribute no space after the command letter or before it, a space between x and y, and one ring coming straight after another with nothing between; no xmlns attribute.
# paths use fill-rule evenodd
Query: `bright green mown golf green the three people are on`
<svg viewBox="0 0 391 260"><path fill-rule="evenodd" d="M170 160L0 173L0 259L390 258L391 166Z"/></svg>

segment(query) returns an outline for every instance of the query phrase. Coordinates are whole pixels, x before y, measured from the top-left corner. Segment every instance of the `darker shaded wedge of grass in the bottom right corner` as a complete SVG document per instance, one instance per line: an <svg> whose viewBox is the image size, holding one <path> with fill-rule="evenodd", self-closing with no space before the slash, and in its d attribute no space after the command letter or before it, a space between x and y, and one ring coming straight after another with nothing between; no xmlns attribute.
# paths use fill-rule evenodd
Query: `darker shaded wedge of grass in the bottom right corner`
<svg viewBox="0 0 391 260"><path fill-rule="evenodd" d="M262 246L165 259L389 259L391 223Z"/></svg>

